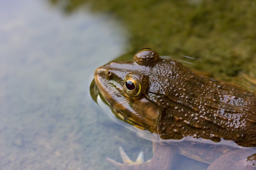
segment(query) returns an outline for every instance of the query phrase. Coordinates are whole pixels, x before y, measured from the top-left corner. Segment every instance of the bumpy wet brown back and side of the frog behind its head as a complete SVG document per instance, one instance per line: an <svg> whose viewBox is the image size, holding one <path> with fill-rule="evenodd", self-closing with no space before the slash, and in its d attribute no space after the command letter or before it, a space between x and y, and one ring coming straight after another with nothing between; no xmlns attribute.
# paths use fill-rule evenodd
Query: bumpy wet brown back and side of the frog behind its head
<svg viewBox="0 0 256 170"><path fill-rule="evenodd" d="M195 75L179 62L160 59L152 68L148 97L161 107L162 139L192 135L256 146L256 97L233 84Z"/></svg>

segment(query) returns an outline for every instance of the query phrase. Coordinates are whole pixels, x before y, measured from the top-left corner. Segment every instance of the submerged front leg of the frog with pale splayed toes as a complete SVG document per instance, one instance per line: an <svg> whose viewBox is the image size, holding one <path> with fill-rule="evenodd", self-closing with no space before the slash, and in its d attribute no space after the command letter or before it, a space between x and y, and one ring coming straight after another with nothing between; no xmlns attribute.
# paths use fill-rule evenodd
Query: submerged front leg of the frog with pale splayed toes
<svg viewBox="0 0 256 170"><path fill-rule="evenodd" d="M153 142L153 157L146 162L144 162L143 152L139 153L136 161L131 161L122 147L119 147L119 151L124 163L107 158L119 170L169 170L172 166L176 148Z"/></svg>

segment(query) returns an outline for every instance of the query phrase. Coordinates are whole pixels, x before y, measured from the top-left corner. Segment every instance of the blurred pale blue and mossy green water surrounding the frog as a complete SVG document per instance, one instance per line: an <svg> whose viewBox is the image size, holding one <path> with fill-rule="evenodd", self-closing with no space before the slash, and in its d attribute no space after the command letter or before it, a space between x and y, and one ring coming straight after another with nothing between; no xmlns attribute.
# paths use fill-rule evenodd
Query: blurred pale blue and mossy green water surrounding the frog
<svg viewBox="0 0 256 170"><path fill-rule="evenodd" d="M255 28L251 0L0 0L0 169L115 170L119 146L150 159L151 142L92 101L95 69L149 47L253 89Z"/></svg>

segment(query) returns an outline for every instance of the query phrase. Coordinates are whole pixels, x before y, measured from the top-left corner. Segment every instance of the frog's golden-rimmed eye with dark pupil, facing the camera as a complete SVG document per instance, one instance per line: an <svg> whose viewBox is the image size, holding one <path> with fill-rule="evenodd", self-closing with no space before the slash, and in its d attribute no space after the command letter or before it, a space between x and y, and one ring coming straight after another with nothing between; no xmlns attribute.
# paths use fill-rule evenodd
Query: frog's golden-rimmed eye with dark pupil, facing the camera
<svg viewBox="0 0 256 170"><path fill-rule="evenodd" d="M124 79L124 91L132 97L137 97L141 92L141 84L135 77L128 76Z"/></svg>

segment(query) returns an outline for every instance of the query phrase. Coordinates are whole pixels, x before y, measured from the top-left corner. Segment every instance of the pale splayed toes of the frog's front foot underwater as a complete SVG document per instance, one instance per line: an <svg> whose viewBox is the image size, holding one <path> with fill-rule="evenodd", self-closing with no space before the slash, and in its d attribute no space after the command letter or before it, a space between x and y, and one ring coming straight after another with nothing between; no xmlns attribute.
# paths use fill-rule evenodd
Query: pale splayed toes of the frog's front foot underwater
<svg viewBox="0 0 256 170"><path fill-rule="evenodd" d="M144 153L143 152L139 152L139 155L138 155L136 161L132 161L130 159L130 157L126 154L126 152L124 151L123 147L121 147L121 146L119 147L119 152L120 152L121 158L124 162L123 164L107 157L107 160L110 161L110 163L112 163L119 169L121 169L122 166L131 166L131 165L137 165L140 163L144 163Z"/></svg>

